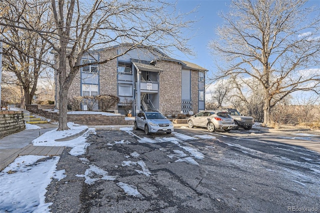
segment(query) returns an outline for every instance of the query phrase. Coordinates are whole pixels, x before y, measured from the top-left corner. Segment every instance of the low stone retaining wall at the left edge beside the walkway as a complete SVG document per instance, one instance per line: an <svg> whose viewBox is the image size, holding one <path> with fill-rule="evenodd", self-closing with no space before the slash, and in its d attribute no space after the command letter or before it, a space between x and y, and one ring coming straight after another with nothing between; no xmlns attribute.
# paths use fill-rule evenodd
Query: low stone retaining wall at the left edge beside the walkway
<svg viewBox="0 0 320 213"><path fill-rule="evenodd" d="M0 138L24 129L22 111L0 111Z"/></svg>

